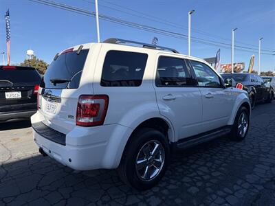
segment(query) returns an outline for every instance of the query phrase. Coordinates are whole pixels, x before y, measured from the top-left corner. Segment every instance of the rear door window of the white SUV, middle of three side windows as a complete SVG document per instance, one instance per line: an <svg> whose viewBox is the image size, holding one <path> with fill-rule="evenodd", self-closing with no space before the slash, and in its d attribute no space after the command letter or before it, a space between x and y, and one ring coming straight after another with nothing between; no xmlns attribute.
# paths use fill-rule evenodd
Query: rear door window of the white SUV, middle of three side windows
<svg viewBox="0 0 275 206"><path fill-rule="evenodd" d="M192 79L181 58L160 56L157 64L157 87L182 87L192 84Z"/></svg>

